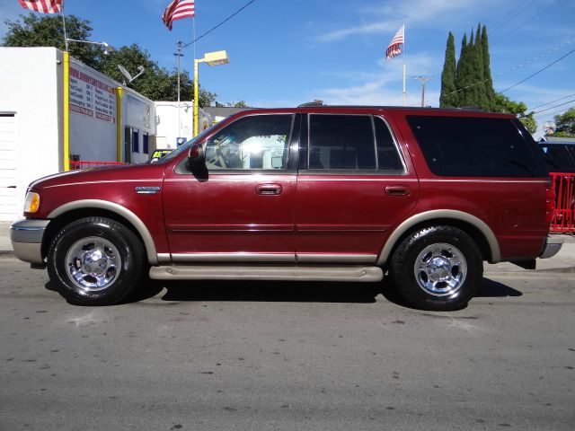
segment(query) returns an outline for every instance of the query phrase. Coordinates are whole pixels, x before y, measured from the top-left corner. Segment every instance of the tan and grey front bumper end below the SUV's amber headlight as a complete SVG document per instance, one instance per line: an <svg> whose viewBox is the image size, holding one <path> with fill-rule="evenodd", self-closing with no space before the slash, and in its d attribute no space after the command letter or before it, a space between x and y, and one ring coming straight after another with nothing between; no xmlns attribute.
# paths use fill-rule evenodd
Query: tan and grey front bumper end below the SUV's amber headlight
<svg viewBox="0 0 575 431"><path fill-rule="evenodd" d="M42 265L42 239L49 220L25 219L10 226L10 240L14 254L24 262Z"/></svg>

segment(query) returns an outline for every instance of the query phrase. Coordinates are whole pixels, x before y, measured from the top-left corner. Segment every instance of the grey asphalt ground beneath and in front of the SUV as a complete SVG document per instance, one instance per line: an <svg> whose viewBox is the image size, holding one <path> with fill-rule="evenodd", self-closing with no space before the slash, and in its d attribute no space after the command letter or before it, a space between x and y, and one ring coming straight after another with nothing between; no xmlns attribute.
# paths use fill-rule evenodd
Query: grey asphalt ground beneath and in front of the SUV
<svg viewBox="0 0 575 431"><path fill-rule="evenodd" d="M0 274L3 430L575 426L572 273L488 272L458 312L252 282L77 307L46 271L1 257Z"/></svg>

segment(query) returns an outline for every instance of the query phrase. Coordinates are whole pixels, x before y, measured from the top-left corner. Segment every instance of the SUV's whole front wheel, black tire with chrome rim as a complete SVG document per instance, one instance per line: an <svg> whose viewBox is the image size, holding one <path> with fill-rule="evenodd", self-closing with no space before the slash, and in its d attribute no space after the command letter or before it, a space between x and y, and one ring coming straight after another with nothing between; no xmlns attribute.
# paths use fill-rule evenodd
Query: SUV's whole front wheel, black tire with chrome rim
<svg viewBox="0 0 575 431"><path fill-rule="evenodd" d="M144 247L126 226L103 217L67 224L50 244L48 274L69 303L119 303L145 274Z"/></svg>

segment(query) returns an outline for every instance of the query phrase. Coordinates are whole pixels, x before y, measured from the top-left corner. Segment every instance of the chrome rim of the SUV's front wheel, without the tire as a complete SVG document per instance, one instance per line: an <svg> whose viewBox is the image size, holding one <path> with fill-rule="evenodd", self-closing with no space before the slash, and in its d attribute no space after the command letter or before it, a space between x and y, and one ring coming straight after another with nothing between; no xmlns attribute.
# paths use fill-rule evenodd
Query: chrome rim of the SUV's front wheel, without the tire
<svg viewBox="0 0 575 431"><path fill-rule="evenodd" d="M76 241L66 253L66 274L75 286L94 292L111 286L122 260L110 241L91 236Z"/></svg>

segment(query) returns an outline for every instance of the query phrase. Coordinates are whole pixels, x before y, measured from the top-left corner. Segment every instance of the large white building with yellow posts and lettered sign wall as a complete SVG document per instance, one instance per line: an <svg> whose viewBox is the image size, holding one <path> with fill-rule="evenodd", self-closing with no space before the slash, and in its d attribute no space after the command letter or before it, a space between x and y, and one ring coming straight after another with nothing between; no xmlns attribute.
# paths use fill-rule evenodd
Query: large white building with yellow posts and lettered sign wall
<svg viewBox="0 0 575 431"><path fill-rule="evenodd" d="M153 101L57 48L0 48L0 82L1 221L22 216L32 180L75 160L143 163L155 144Z"/></svg>

